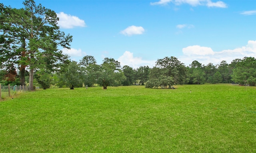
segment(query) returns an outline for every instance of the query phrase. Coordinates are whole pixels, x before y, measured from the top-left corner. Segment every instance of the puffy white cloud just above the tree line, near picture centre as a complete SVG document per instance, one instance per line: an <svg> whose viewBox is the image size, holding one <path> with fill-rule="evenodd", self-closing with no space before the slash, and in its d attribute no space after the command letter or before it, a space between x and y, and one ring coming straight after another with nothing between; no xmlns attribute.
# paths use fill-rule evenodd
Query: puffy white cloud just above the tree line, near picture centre
<svg viewBox="0 0 256 153"><path fill-rule="evenodd" d="M130 51L125 51L122 56L118 58L118 62L120 62L120 65L123 67L124 65L128 65L129 67L132 67L134 69L140 67L140 66L146 66L154 67L156 61L145 61L142 60L141 57L133 57L133 53Z"/></svg>

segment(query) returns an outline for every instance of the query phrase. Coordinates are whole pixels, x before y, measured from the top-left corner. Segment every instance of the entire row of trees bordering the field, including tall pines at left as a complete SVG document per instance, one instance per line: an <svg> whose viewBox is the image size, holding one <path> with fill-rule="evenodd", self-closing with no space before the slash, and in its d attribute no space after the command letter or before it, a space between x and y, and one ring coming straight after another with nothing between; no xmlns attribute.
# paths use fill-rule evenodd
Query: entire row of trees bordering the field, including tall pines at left
<svg viewBox="0 0 256 153"><path fill-rule="evenodd" d="M153 68L128 65L105 58L97 64L87 55L80 62L70 61L59 47L70 48L72 36L60 31L53 10L25 0L24 8L0 4L0 80L2 84L29 84L70 89L83 85L146 85L146 88L172 88L174 84L239 83L255 85L254 57L234 59L230 64L202 65L193 61L185 66L176 57L158 59Z"/></svg>

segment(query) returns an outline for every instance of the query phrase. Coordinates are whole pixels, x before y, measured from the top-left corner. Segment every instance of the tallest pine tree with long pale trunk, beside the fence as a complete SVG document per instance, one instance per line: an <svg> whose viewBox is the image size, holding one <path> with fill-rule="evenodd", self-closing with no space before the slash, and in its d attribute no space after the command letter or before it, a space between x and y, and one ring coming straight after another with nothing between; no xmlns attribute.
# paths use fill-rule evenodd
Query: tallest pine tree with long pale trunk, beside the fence
<svg viewBox="0 0 256 153"><path fill-rule="evenodd" d="M54 11L41 4L36 6L34 0L25 0L23 4L21 9L0 5L0 18L4 19L1 20L1 56L5 65L10 65L10 59L16 59L14 64L19 65L22 79L24 68L29 67L30 90L33 90L34 71L38 65L44 57L51 57L48 63L58 69L68 58L57 47L69 48L72 36L59 30Z"/></svg>

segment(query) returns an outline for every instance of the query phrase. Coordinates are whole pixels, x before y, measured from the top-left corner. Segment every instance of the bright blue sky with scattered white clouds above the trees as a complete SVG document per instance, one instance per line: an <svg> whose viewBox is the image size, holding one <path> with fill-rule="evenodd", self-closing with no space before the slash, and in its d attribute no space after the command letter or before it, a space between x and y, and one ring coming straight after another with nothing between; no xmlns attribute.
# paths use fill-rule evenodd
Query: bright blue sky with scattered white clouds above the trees
<svg viewBox="0 0 256 153"><path fill-rule="evenodd" d="M22 8L23 0L0 0ZM256 0L35 0L54 10L58 25L73 36L79 61L92 55L122 66L153 67L177 57L186 66L256 57Z"/></svg>

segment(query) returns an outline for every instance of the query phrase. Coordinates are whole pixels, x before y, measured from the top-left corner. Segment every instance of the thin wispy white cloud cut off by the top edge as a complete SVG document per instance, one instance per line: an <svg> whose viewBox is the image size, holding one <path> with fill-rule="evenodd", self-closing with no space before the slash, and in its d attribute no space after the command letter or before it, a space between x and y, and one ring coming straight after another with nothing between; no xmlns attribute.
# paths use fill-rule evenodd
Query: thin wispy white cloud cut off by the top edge
<svg viewBox="0 0 256 153"><path fill-rule="evenodd" d="M173 2L175 5L189 4L191 6L208 6L208 7L218 7L218 8L227 8L227 5L222 2L212 2L211 0L160 0L158 2L151 2L151 5L166 5L169 2Z"/></svg>

